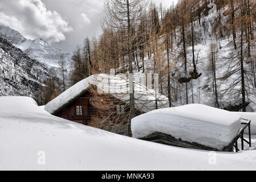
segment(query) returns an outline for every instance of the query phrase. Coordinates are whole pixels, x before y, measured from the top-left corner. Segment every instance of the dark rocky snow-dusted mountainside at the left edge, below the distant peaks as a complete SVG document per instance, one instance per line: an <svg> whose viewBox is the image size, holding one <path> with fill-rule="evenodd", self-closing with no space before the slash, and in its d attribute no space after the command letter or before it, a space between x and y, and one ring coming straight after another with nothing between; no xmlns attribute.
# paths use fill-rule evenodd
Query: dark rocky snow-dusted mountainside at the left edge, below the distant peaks
<svg viewBox="0 0 256 182"><path fill-rule="evenodd" d="M11 40L21 42L20 38ZM0 96L32 96L48 77L46 65L0 36Z"/></svg>

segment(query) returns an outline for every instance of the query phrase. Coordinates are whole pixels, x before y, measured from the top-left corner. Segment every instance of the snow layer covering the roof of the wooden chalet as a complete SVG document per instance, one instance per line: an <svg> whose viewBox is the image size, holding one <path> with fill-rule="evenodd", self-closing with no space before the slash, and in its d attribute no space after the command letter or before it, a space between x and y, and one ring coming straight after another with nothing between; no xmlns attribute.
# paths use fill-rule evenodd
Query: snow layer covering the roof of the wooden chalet
<svg viewBox="0 0 256 182"><path fill-rule="evenodd" d="M110 92L113 97L127 102L129 100L128 82L128 79L126 80L124 77L118 75L115 76L115 79L112 79L111 76L106 74L92 75L83 79L82 81L79 81L75 85L71 86L71 88L61 93L58 97L48 102L44 109L49 113L54 113L55 111L61 109L68 102L74 100L74 98L86 91L90 85L96 85L101 92ZM155 109L156 98L158 100L157 105L159 108L169 106L167 97L159 93L155 94L153 89L147 89L142 84L137 82L134 83L136 109L142 110L144 112ZM113 91L113 89L115 89L115 91Z"/></svg>

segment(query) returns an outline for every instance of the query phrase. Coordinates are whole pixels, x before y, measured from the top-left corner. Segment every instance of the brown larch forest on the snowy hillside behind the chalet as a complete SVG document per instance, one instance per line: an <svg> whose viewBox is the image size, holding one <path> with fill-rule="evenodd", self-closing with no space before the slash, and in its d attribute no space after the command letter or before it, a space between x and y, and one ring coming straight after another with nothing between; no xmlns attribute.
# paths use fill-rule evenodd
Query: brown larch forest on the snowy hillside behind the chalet
<svg viewBox="0 0 256 182"><path fill-rule="evenodd" d="M103 34L74 48L72 63L60 57L59 77L52 69L34 98L44 105L83 78L116 69L158 73L170 107L255 111L255 6L253 0L182 0L170 7L105 1Z"/></svg>

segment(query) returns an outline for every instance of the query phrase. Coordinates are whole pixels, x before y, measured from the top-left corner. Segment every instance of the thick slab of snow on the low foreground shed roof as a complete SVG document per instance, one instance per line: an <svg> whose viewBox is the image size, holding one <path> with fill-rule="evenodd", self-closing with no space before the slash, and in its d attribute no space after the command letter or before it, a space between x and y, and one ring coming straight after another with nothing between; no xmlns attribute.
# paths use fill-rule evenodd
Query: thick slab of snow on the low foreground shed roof
<svg viewBox="0 0 256 182"><path fill-rule="evenodd" d="M241 117L214 107L189 104L157 109L132 119L135 138L156 131L222 150L241 129Z"/></svg>

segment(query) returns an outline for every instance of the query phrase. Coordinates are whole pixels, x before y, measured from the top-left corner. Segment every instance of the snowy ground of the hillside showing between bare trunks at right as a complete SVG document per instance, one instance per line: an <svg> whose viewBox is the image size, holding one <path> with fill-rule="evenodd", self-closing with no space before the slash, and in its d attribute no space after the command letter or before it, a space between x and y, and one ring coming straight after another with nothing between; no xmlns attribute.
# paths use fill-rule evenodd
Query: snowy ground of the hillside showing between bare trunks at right
<svg viewBox="0 0 256 182"><path fill-rule="evenodd" d="M221 9L222 22L225 22L229 16L225 15L226 7ZM241 105L241 71L238 69L239 62L235 62L234 58L234 48L232 44L232 37L229 35L223 36L222 38L216 37L212 34L214 22L217 18L212 15L206 15L201 18L201 23L198 19L194 20L194 55L196 60L196 68L198 73L202 73L197 79L191 79L187 85L185 82L178 82L177 80L181 77L185 77L184 74L184 55L182 55L183 47L181 43L181 27L177 26L176 36L172 38L173 47L169 48L169 59L170 59L170 85L171 85L171 97L172 105L180 106L186 104L186 87L188 89L188 104L205 104L213 107L220 107L221 109L229 110L233 107L239 107ZM187 59L187 74L193 71L193 61L192 61L192 43L190 35L190 23L185 26L185 36L186 39L186 59ZM165 35L161 35L158 39L158 44L161 46L165 44ZM239 40L237 40L239 44ZM160 47L159 46L159 47ZM213 50L212 50L213 48ZM152 53L150 58L148 55L144 58L145 64L145 74L154 73L154 63L155 57L160 56L161 59L159 63L160 71L157 70L155 73L159 73L160 92L168 96L168 80L165 75L165 71L161 71L167 67L167 56L166 49L160 53L160 55ZM213 56L213 57L212 57ZM238 56L239 57L239 56ZM140 57L138 56L140 60ZM212 59L214 59L214 67L216 67L216 83L213 80L212 73ZM246 60L248 59L248 60ZM255 58L254 58L255 59ZM255 74L252 70L255 67L252 58L247 58L245 56L245 61L243 62L243 67L245 69L246 75L246 102L247 111L256 111L256 94L255 94L255 83L253 81L253 75ZM232 62L233 61L233 62ZM157 65L158 66L158 65ZM133 64L133 69L136 73L143 73L142 70L143 63L139 61L139 68ZM238 71L235 71L237 70ZM231 76L227 76L229 73ZM218 105L216 104L216 90L214 89L216 85ZM237 108L235 108L237 109ZM237 110L230 110L237 111Z"/></svg>

